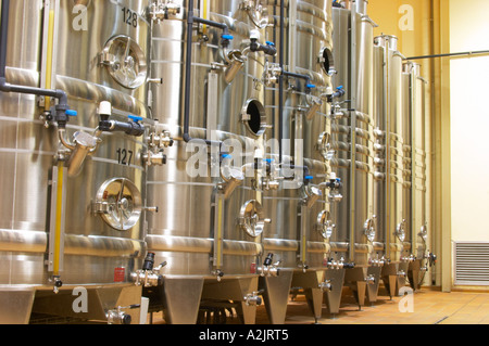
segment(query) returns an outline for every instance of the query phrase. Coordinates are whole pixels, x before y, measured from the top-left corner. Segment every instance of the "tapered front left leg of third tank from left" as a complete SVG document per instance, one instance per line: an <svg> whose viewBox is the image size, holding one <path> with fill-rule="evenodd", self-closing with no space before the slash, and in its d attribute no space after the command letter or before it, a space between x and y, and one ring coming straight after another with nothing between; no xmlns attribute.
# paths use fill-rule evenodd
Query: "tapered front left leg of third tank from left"
<svg viewBox="0 0 489 346"><path fill-rule="evenodd" d="M260 278L260 287L264 290L263 299L272 324L285 323L292 275L292 271L281 270L278 277Z"/></svg>

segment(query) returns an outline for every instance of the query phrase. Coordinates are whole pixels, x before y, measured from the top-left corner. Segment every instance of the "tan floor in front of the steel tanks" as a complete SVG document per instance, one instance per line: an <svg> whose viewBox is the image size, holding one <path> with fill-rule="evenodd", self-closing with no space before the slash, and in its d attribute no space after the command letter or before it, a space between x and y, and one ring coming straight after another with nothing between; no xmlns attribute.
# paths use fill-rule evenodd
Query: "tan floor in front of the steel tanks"
<svg viewBox="0 0 489 346"><path fill-rule="evenodd" d="M436 289L422 289L413 295L390 299L379 289L376 303L359 309L349 290L343 291L340 312L330 316L323 309L321 324L489 324L489 292L443 293ZM148 322L151 320L148 319ZM165 323L163 315L155 312L152 323ZM239 323L236 315L228 315L226 323ZM312 324L314 318L303 295L290 299L285 324ZM258 307L256 324L269 324L264 305Z"/></svg>

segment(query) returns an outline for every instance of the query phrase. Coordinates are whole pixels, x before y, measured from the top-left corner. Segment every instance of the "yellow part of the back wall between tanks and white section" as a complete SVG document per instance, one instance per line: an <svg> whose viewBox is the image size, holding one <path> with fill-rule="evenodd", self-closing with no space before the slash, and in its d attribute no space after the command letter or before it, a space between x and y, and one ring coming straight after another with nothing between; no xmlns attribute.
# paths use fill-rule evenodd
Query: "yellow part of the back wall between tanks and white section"
<svg viewBox="0 0 489 346"><path fill-rule="evenodd" d="M487 1L487 0L486 0ZM450 52L449 0L369 0L368 15L378 24L375 34L396 35L405 57ZM413 59L428 81L430 131L428 171L430 251L438 256L431 278L443 291L452 287L450 59Z"/></svg>

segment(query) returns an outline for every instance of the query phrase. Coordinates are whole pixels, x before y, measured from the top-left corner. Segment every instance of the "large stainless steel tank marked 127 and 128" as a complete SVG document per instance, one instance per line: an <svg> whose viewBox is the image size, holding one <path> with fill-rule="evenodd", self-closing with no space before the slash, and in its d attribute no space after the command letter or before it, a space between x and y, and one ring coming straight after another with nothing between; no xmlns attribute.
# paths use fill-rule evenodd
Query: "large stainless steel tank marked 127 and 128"
<svg viewBox="0 0 489 346"><path fill-rule="evenodd" d="M139 322L149 3L9 2L2 316ZM80 287L88 311L72 307Z"/></svg>

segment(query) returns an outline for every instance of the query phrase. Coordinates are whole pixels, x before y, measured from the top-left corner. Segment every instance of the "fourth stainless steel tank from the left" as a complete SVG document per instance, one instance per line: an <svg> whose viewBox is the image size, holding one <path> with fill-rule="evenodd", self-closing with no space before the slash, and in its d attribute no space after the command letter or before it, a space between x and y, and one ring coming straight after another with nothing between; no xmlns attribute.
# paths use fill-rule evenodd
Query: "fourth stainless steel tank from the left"
<svg viewBox="0 0 489 346"><path fill-rule="evenodd" d="M374 213L375 23L366 10L366 1L343 1L334 8L334 85L346 94L334 104L334 169L342 179L343 198L334 209L338 232L333 251L337 261L354 267L346 271L344 282L360 306L365 298L376 300L381 266Z"/></svg>

